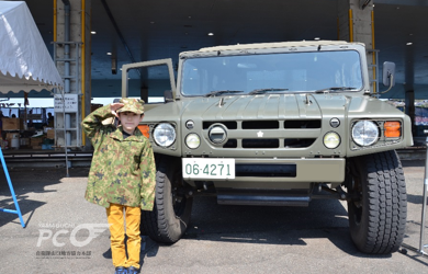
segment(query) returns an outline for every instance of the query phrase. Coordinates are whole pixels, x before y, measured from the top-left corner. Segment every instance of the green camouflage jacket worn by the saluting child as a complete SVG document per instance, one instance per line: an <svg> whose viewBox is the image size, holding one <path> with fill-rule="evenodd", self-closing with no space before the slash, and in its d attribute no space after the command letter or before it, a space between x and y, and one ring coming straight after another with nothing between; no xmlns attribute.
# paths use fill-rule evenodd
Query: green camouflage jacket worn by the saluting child
<svg viewBox="0 0 428 274"><path fill-rule="evenodd" d="M85 198L109 207L110 203L151 210L156 168L150 142L138 128L123 139L122 127L103 125L113 117L110 105L89 114L82 128L93 145L93 158Z"/></svg>

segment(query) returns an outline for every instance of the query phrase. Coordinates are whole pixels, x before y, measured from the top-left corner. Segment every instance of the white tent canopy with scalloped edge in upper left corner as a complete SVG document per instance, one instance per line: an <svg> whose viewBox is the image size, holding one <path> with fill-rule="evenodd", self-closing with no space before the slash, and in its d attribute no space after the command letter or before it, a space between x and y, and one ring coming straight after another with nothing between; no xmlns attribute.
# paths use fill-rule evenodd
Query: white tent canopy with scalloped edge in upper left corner
<svg viewBox="0 0 428 274"><path fill-rule="evenodd" d="M24 1L0 1L0 93L64 85Z"/></svg>

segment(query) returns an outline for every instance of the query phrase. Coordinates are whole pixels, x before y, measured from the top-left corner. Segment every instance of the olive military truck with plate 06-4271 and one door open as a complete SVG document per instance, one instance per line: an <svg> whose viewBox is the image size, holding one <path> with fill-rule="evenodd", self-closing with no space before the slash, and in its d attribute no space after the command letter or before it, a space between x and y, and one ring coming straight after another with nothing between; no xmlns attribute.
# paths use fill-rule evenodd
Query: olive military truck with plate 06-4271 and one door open
<svg viewBox="0 0 428 274"><path fill-rule="evenodd" d="M406 185L395 149L413 146L410 119L371 91L361 43L248 44L125 65L166 65L171 91L147 104L140 128L157 165L156 203L142 231L174 243L196 195L223 205L348 205L357 248L398 250L406 226ZM383 83L394 84L385 62ZM386 88L385 88L386 89Z"/></svg>

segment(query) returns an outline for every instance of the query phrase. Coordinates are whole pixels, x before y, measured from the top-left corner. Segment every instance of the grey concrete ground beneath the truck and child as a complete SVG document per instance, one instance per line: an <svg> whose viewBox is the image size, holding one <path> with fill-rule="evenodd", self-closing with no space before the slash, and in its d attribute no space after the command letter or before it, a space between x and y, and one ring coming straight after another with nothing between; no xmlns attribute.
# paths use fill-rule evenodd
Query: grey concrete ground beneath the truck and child
<svg viewBox="0 0 428 274"><path fill-rule="evenodd" d="M425 273L428 259L412 251L419 249L425 162L403 165L407 254L359 252L338 201L248 207L198 197L183 239L167 247L144 238L142 273ZM83 199L88 171L70 169L67 178L65 169L9 170L26 227L0 212L0 273L114 273L105 210ZM1 172L0 207L14 208Z"/></svg>

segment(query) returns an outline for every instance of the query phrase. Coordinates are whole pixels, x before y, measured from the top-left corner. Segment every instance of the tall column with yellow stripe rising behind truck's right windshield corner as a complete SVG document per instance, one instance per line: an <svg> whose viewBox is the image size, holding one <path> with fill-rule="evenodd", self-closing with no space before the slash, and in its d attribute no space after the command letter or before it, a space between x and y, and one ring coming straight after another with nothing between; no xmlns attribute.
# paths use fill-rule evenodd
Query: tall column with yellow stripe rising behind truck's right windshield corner
<svg viewBox="0 0 428 274"><path fill-rule="evenodd" d="M370 88L379 92L376 80L376 58L374 47L373 0L338 0L338 39L365 44L369 66Z"/></svg>

